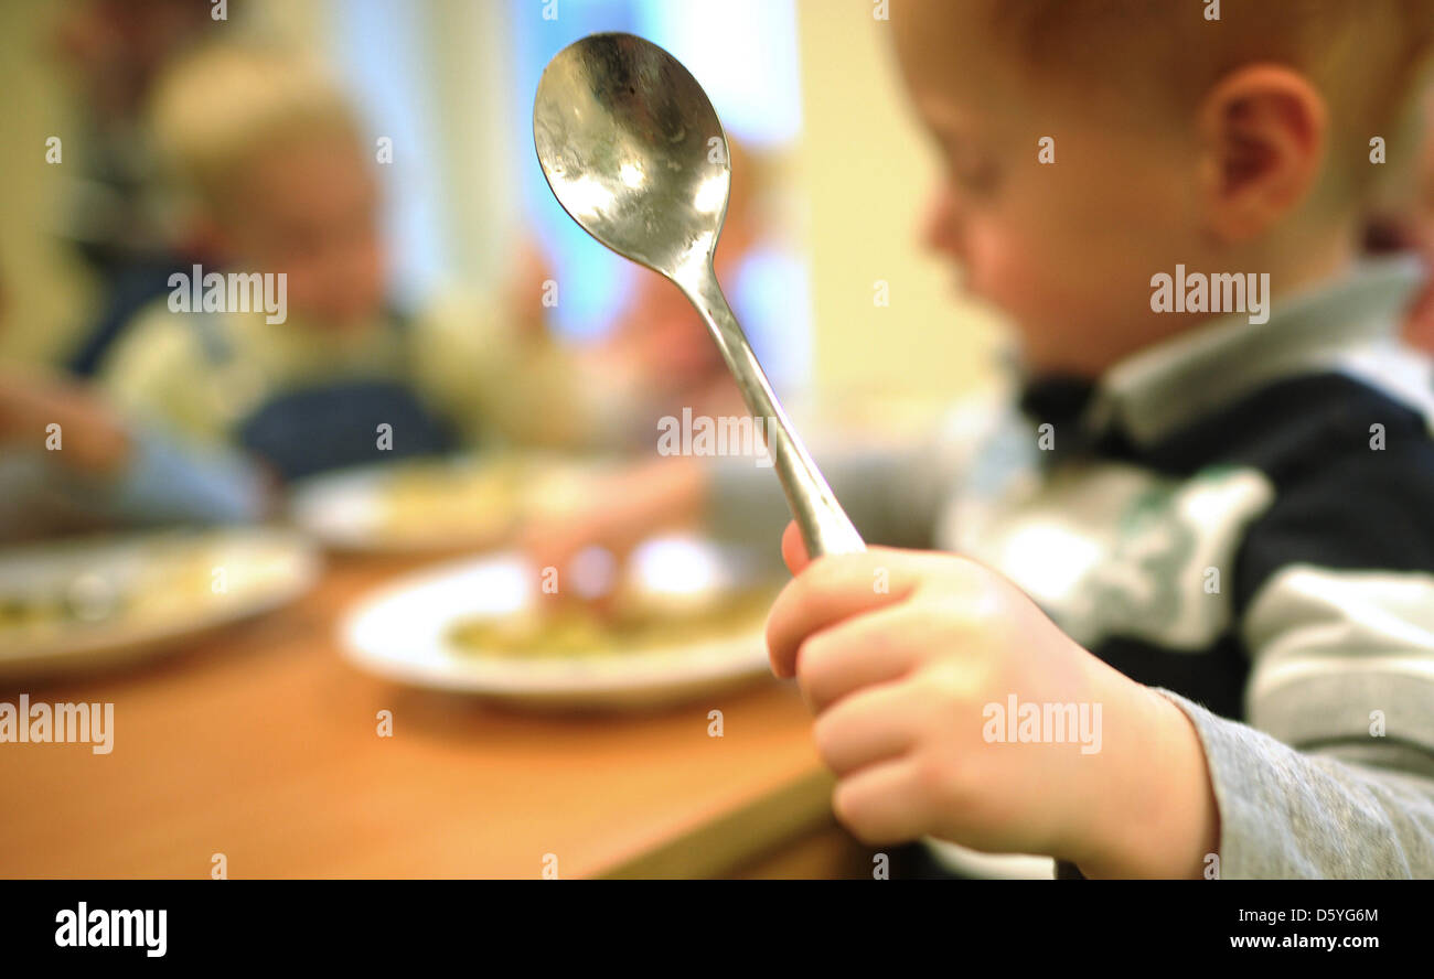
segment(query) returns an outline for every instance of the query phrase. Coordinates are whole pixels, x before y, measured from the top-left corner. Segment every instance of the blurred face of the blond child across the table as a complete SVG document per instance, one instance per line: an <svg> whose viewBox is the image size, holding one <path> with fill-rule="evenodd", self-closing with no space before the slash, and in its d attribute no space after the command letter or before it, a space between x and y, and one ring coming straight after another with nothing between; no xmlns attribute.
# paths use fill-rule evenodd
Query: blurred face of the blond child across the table
<svg viewBox="0 0 1434 979"><path fill-rule="evenodd" d="M387 254L379 186L344 132L295 135L257 153L225 222L242 271L287 272L290 317L346 331L383 310Z"/></svg>

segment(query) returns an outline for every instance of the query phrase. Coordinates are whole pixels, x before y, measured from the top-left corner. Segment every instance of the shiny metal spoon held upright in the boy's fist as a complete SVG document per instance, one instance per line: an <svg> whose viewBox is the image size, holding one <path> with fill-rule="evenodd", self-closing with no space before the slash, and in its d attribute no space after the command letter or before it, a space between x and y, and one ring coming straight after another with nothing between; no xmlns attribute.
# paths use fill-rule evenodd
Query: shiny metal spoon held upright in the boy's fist
<svg viewBox="0 0 1434 979"><path fill-rule="evenodd" d="M677 284L754 419L807 553L865 550L777 403L713 271L727 214L727 136L697 79L657 44L591 34L558 52L533 100L538 162L558 204L617 254Z"/></svg>

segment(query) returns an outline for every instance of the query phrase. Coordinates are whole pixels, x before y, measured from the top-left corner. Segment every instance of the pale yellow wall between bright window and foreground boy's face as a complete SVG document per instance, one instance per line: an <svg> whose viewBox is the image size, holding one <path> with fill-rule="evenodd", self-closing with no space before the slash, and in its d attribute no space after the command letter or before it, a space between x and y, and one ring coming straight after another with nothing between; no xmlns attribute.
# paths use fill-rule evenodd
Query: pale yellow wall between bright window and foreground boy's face
<svg viewBox="0 0 1434 979"><path fill-rule="evenodd" d="M799 0L804 132L796 186L823 394L944 397L991 376L995 327L959 301L918 228L936 169L872 0ZM886 280L891 305L873 305Z"/></svg>

